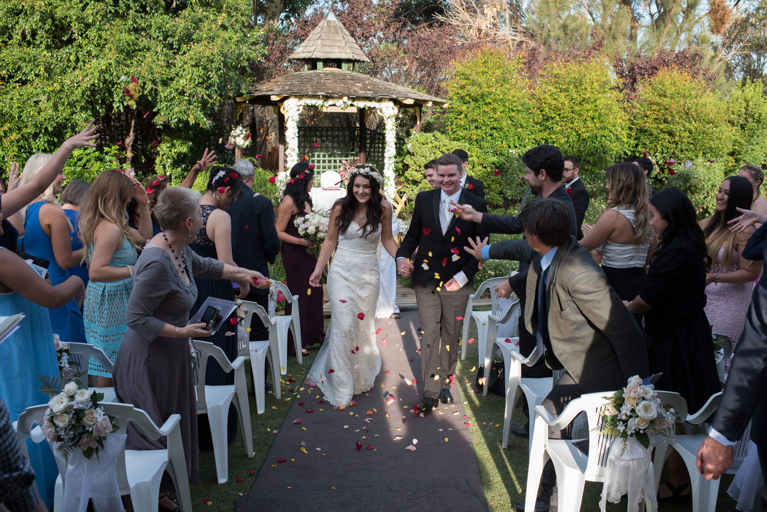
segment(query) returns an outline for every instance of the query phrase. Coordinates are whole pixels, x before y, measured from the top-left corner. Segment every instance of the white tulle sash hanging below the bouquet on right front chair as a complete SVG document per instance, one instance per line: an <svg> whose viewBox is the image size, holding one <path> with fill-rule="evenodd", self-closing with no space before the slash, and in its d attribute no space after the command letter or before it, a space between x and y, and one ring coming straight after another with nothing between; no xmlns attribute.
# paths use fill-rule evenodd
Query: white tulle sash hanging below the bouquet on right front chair
<svg viewBox="0 0 767 512"><path fill-rule="evenodd" d="M602 499L599 501L599 509L605 512L607 501L620 503L621 497L628 494L627 510L638 512L639 504L647 494L653 509L657 507L655 480L650 471L652 462L652 448L663 442L660 435L650 435L650 449L644 448L637 438L624 439L613 438L610 444L610 453L607 455L607 464L604 468L604 487L602 487ZM621 455L623 451L623 455ZM643 493L644 491L644 493Z"/></svg>

